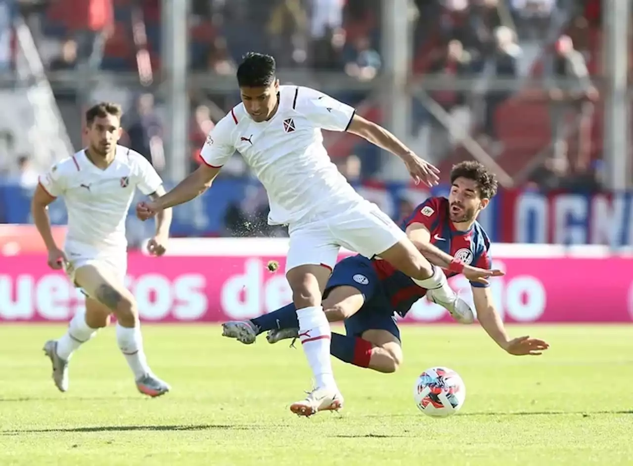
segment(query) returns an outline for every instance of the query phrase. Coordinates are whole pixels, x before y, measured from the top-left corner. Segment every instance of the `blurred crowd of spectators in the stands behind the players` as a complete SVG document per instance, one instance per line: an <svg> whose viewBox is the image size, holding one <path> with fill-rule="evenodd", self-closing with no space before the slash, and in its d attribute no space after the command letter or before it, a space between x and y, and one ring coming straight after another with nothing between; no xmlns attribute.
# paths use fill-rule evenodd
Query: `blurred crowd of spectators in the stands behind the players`
<svg viewBox="0 0 633 466"><path fill-rule="evenodd" d="M403 44L413 50L411 147L446 170L472 157L462 144L472 138L519 183L599 189L601 9L599 0L411 0L409 11L403 11L414 24L412 43ZM137 72L133 26L139 21L151 67L160 73L160 0L0 1L0 70L12 67L11 18L18 11L32 31L53 89L54 73L60 70L85 66L104 73ZM189 66L192 72L231 76L242 54L256 49L273 54L279 68L346 73L372 82L382 72L381 18L380 0L192 0ZM429 90L438 104L434 110L413 95L432 75L456 83L453 89ZM542 78L542 84L530 86L530 78ZM565 78L565 84L556 78ZM460 79L470 79L470 85ZM511 84L499 86L496 80ZM197 89L189 95L194 169L218 114L239 95ZM335 97L380 119L379 104L367 93L350 90ZM134 101L123 122L124 143L161 168L162 102L142 89ZM458 136L453 127L465 131ZM10 139L0 132L0 152L10 154ZM332 146L335 163L350 180L379 173L375 148L339 139ZM12 176L25 185L34 183L28 154L13 156L17 169ZM235 157L223 175L246 173ZM230 221L239 223L240 212L232 212Z"/></svg>

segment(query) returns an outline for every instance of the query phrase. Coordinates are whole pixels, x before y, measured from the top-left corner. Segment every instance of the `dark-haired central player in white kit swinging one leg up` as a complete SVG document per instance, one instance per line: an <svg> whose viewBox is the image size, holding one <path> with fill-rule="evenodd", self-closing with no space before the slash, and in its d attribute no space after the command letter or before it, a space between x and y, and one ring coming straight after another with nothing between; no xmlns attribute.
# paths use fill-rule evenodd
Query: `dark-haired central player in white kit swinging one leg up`
<svg viewBox="0 0 633 466"><path fill-rule="evenodd" d="M220 168L240 152L266 188L270 224L287 224L290 249L286 276L299 320L299 338L316 388L291 411L312 415L342 406L330 360L330 326L323 313L323 288L340 247L385 259L429 289L458 320L472 310L446 283L446 276L422 257L392 220L363 199L339 173L323 147L321 130L348 131L401 157L416 181L436 185L437 169L417 157L384 128L354 109L307 87L280 86L275 59L249 53L237 70L242 103L218 122L201 152L205 162L157 200L137 205L147 219L162 209L203 193ZM239 331L244 322L237 322Z"/></svg>

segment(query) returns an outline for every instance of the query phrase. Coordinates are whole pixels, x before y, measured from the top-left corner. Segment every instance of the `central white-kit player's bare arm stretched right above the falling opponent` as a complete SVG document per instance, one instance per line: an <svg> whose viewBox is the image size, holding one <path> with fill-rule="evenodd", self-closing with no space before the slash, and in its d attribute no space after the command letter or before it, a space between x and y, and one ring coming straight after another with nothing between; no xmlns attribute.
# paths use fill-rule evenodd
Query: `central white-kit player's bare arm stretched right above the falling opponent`
<svg viewBox="0 0 633 466"><path fill-rule="evenodd" d="M418 157L411 149L406 147L401 140L382 126L358 114L354 114L352 120L349 122L347 131L400 157L416 184L422 181L429 187L433 187L439 183L439 176L437 175L439 169Z"/></svg>

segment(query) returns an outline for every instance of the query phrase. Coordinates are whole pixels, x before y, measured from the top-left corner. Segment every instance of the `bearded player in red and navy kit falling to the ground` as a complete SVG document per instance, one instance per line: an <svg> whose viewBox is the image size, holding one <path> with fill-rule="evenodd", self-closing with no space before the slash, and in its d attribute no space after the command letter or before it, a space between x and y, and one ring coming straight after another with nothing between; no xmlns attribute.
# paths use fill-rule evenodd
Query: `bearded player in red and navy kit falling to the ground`
<svg viewBox="0 0 633 466"><path fill-rule="evenodd" d="M403 229L433 264L446 269L449 276L462 273L470 280L477 319L497 345L512 355L540 355L549 347L546 341L508 336L486 279L491 267L490 242L477 215L496 193L494 176L479 162L461 162L451 170L451 185L448 199L432 197L418 205ZM346 329L346 335L332 333L330 352L349 364L395 372L403 361L403 351L394 312L406 316L426 291L385 261L370 261L361 255L343 259L334 267L323 294L327 319L344 321ZM223 335L250 344L268 331L268 342L277 343L297 338L298 327L290 304L256 319L226 322Z"/></svg>

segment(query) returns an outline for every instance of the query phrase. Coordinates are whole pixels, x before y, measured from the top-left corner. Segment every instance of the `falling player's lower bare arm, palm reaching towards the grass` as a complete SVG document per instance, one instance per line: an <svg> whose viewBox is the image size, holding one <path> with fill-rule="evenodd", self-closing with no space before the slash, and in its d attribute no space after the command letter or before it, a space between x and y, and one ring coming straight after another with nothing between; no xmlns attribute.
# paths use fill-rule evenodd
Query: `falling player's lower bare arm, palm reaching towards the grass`
<svg viewBox="0 0 633 466"><path fill-rule="evenodd" d="M530 338L530 336L520 336L511 340L506 333L501 316L494 308L491 289L473 286L472 292L477 310L477 320L490 338L506 352L516 356L537 356L549 348L546 341Z"/></svg>

